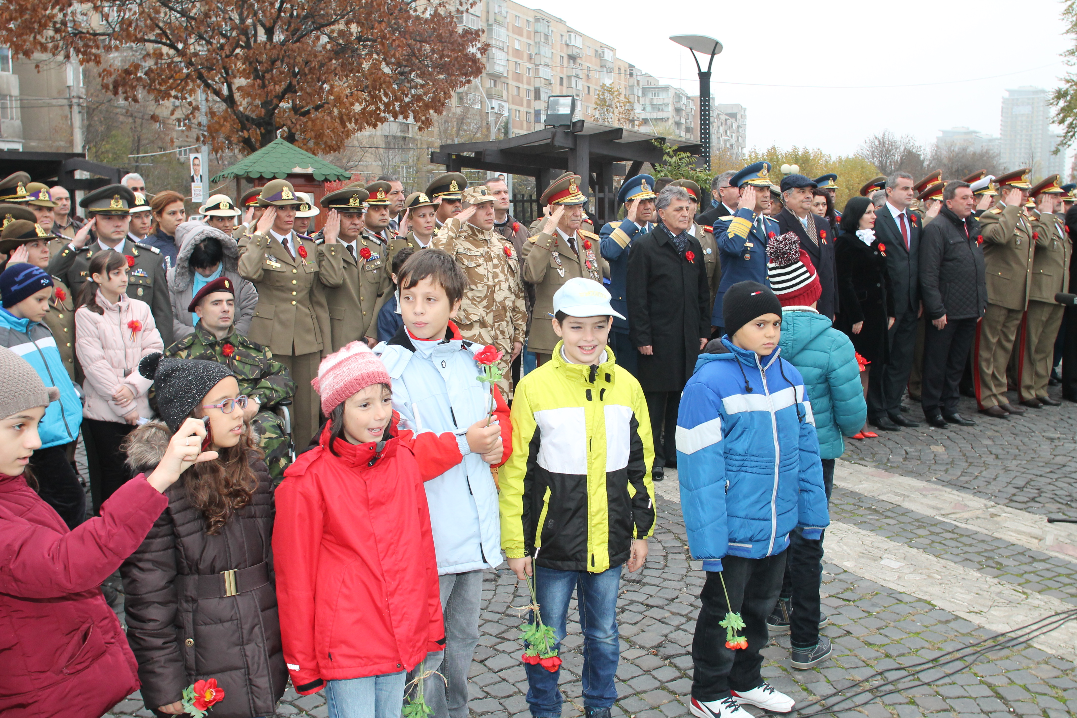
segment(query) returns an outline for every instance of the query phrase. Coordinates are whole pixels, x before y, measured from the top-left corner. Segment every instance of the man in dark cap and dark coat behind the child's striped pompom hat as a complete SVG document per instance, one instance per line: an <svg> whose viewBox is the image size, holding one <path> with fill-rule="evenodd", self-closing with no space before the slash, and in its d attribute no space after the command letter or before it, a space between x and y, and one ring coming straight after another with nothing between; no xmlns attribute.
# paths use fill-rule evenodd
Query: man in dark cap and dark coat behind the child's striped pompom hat
<svg viewBox="0 0 1077 718"><path fill-rule="evenodd" d="M803 174L787 174L782 179L782 210L778 220L779 233L795 233L800 238L800 247L811 257L823 294L816 309L820 314L834 321L838 312L838 276L834 261L834 240L830 223L812 214L812 189L814 180ZM816 222L817 221L817 222Z"/></svg>

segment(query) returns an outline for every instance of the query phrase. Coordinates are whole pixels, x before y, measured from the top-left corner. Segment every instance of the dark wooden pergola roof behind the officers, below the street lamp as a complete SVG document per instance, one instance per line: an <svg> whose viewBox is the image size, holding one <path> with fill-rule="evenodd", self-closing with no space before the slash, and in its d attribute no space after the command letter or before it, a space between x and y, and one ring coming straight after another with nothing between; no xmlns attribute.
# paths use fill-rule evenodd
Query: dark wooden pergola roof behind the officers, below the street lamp
<svg viewBox="0 0 1077 718"><path fill-rule="evenodd" d="M571 126L547 127L504 140L443 144L430 153L430 161L445 165L449 172L478 169L530 175L538 193L562 172L571 171L590 187L596 226L600 227L617 217L614 178L634 177L645 163L660 164L666 145L695 156L700 153L699 143L577 119Z"/></svg>

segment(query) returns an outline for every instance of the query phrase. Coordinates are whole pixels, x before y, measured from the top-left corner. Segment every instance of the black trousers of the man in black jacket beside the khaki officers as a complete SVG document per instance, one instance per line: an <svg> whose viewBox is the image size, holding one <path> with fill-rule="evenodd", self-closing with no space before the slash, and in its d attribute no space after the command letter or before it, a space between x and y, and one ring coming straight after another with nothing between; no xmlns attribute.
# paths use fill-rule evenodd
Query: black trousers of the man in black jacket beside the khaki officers
<svg viewBox="0 0 1077 718"><path fill-rule="evenodd" d="M955 413L961 377L976 338L976 318L950 320L941 329L924 326L924 374L920 405L924 416Z"/></svg>

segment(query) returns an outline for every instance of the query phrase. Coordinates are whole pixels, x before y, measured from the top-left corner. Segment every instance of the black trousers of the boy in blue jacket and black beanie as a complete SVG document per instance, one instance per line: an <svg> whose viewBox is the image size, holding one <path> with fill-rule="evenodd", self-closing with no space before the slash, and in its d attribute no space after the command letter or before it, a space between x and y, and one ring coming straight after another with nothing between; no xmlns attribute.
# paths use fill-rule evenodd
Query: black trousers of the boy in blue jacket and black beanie
<svg viewBox="0 0 1077 718"><path fill-rule="evenodd" d="M763 682L759 650L767 645L767 616L782 590L786 553L766 559L727 555L722 560L723 571L707 573L691 642L691 696L697 701L719 701L730 690L750 691ZM741 635L747 638L747 648L726 648L726 630L718 625L726 611L739 611L744 619Z"/></svg>

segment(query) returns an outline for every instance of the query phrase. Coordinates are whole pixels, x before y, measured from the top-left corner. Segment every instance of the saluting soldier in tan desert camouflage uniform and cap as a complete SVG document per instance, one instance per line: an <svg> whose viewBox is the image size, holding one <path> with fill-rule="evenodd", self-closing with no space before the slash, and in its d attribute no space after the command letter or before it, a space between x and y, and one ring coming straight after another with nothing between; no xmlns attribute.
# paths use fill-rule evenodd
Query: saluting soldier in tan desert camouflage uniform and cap
<svg viewBox="0 0 1077 718"><path fill-rule="evenodd" d="M464 209L442 225L430 245L452 255L467 274L454 320L460 335L496 347L503 353L498 367L507 378L528 326L520 257L513 242L493 230L493 195L486 185L464 189L463 201Z"/></svg>

